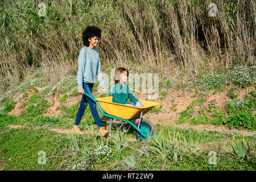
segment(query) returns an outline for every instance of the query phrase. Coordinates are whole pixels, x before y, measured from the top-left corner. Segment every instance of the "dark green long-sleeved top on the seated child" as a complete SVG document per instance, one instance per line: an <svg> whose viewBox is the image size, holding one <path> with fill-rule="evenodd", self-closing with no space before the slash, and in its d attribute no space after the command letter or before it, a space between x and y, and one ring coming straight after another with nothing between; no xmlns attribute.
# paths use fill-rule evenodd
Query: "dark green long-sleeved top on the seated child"
<svg viewBox="0 0 256 182"><path fill-rule="evenodd" d="M129 86L124 84L115 84L114 88L112 90L113 98L112 102L119 103L119 104L131 104L130 102L127 101L129 100L136 104L139 100L133 96L131 93Z"/></svg>

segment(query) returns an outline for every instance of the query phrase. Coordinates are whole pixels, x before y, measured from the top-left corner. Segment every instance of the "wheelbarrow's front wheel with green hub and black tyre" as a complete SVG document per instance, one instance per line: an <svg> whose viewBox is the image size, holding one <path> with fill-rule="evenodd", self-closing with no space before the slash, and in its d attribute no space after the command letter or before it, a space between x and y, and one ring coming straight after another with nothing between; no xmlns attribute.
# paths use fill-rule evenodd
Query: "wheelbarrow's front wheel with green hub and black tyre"
<svg viewBox="0 0 256 182"><path fill-rule="evenodd" d="M135 126L138 127L138 125L139 125L139 121L135 124ZM147 136L147 137L144 137L141 133L139 133L139 131L135 129L135 136L140 141L147 140L147 138L149 137L154 137L156 133L156 129L153 123L143 118L142 118L141 126L139 127L139 129L141 129L141 132Z"/></svg>

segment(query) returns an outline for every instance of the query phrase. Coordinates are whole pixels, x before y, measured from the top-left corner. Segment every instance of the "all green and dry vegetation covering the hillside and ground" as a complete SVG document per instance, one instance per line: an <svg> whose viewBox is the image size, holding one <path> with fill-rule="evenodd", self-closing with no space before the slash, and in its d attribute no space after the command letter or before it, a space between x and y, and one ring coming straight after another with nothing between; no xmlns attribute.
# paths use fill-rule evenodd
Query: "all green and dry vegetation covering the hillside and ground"
<svg viewBox="0 0 256 182"><path fill-rule="evenodd" d="M234 93L237 88L255 87L254 1L214 1L218 8L214 17L207 16L209 1L203 0L44 3L46 16L39 16L39 2L0 4L0 170L255 170L255 136L240 136L234 130L156 125L158 135L147 142L131 140L133 129L117 131L110 140L96 134L87 106L81 120L86 134L49 131L71 129L75 121L79 103L67 106L66 101L79 96L80 37L92 24L102 29L97 49L107 75L125 61L133 73L159 73L160 100L170 89L192 90L195 99L179 112L176 123L255 131L255 91L244 98ZM230 87L223 107L216 100L205 100L206 94ZM24 93L28 88L34 90L29 98ZM45 116L49 98L61 103L57 117ZM22 114L7 114L20 100ZM172 100L168 113L176 106ZM160 105L152 112L166 111ZM107 125L108 119L101 113L100 117ZM9 125L28 129L9 129ZM40 151L46 154L46 164L38 163Z"/></svg>

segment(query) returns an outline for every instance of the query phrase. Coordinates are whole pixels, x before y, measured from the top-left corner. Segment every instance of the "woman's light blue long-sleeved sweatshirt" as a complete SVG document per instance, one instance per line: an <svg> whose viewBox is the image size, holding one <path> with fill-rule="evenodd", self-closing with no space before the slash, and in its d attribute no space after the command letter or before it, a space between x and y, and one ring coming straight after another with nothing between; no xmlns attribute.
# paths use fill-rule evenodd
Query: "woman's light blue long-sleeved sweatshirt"
<svg viewBox="0 0 256 182"><path fill-rule="evenodd" d="M98 50L86 46L81 48L78 61L79 68L76 78L78 89L83 89L83 82L94 84L96 82L96 75L98 76L101 88L104 88L105 84L102 77L100 53Z"/></svg>

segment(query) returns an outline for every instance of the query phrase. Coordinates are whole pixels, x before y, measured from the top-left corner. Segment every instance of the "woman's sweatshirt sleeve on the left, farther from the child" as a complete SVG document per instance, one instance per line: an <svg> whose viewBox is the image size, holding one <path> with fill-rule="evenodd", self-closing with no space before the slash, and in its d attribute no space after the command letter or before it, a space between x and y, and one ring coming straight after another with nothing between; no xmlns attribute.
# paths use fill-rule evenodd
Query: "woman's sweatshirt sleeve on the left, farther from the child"
<svg viewBox="0 0 256 182"><path fill-rule="evenodd" d="M79 68L78 68L77 77L76 77L78 89L84 89L82 88L82 80L84 78L84 70L85 70L85 64L86 64L84 49L81 49L79 53L78 62L79 62Z"/></svg>

